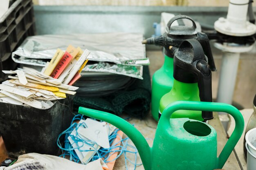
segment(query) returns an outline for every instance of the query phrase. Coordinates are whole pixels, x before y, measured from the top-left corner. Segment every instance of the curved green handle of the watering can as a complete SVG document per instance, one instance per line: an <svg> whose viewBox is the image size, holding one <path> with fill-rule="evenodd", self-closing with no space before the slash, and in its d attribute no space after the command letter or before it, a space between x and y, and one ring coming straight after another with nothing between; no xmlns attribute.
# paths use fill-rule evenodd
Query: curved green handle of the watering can
<svg viewBox="0 0 256 170"><path fill-rule="evenodd" d="M236 122L235 129L221 151L220 156L218 157L217 168L221 169L236 146L244 130L245 122L240 111L234 106L224 103L177 101L169 104L164 109L162 116L159 119L159 124L162 123L166 124L167 127L170 126L170 117L177 110L225 112L234 117Z"/></svg>

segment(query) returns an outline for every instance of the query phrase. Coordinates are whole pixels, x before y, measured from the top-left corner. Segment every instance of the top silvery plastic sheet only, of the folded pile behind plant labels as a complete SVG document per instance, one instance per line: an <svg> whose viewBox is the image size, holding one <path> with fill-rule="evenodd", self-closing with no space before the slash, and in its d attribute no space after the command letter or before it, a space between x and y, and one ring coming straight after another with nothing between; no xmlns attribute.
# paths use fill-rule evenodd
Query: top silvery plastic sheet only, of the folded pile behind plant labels
<svg viewBox="0 0 256 170"><path fill-rule="evenodd" d="M71 35L36 35L28 37L13 52L20 57L51 59L56 49L65 51L69 44L91 51L91 61L115 62L124 65L148 65L141 33L97 33Z"/></svg>

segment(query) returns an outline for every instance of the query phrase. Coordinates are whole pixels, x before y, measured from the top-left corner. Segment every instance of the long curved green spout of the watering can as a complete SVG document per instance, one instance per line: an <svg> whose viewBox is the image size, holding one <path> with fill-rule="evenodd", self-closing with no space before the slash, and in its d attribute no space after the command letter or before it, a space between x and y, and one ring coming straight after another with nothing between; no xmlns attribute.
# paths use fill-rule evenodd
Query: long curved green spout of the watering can
<svg viewBox="0 0 256 170"><path fill-rule="evenodd" d="M141 132L128 121L107 112L83 107L79 107L78 113L94 119L106 121L123 131L132 140L133 144L135 144L145 170L151 170L151 148Z"/></svg>

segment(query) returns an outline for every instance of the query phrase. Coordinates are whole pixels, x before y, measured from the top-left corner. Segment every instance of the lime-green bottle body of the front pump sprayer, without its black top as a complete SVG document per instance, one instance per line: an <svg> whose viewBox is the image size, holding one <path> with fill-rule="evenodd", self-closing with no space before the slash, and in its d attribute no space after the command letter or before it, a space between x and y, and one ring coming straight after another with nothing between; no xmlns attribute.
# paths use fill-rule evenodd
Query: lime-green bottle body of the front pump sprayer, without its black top
<svg viewBox="0 0 256 170"><path fill-rule="evenodd" d="M164 108L166 108L169 104L181 100L200 102L198 83L184 83L174 79L173 88L160 100L158 116L161 116ZM171 116L171 118L182 117L188 117L189 119L195 119L199 121L204 120L202 119L202 112L194 110L177 110Z"/></svg>

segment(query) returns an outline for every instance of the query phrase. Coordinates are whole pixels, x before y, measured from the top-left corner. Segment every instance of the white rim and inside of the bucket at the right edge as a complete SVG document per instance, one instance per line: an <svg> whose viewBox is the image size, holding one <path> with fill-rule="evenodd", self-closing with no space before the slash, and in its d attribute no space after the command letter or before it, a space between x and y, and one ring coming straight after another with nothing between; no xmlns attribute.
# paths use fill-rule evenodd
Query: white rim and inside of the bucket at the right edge
<svg viewBox="0 0 256 170"><path fill-rule="evenodd" d="M252 152L252 155L256 156L256 128L246 133L245 140L248 144L249 151Z"/></svg>

